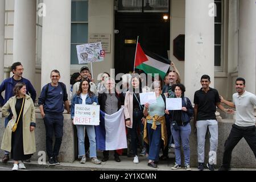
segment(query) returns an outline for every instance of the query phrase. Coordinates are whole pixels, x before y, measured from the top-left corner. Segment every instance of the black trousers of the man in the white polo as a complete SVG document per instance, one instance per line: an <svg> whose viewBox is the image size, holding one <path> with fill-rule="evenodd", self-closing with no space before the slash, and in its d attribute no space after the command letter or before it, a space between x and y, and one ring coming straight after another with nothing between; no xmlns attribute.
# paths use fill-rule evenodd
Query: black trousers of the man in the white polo
<svg viewBox="0 0 256 182"><path fill-rule="evenodd" d="M234 124L232 125L229 137L225 142L225 150L222 160L223 167L230 168L232 151L242 138L245 138L256 158L256 127L241 127Z"/></svg>

